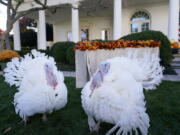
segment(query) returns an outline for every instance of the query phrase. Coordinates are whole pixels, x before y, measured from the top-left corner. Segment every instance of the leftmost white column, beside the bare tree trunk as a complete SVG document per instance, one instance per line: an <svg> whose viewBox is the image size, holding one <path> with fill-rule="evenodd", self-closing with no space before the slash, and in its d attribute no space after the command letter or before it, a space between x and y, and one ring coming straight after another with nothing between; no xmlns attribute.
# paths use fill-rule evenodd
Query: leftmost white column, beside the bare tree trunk
<svg viewBox="0 0 180 135"><path fill-rule="evenodd" d="M14 32L14 50L20 51L21 50L21 39L20 39L20 28L19 28L19 20L17 20L13 25L13 32Z"/></svg>

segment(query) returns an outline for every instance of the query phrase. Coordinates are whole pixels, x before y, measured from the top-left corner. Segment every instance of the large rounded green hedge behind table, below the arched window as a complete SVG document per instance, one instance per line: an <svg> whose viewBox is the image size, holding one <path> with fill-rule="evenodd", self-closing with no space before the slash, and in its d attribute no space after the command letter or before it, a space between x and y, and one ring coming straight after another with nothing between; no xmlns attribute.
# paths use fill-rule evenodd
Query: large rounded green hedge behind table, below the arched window
<svg viewBox="0 0 180 135"><path fill-rule="evenodd" d="M161 41L160 47L160 58L161 65L165 68L170 67L170 62L173 58L171 52L170 42L162 32L160 31L144 31L140 33L129 34L127 36L122 37L124 40L156 40Z"/></svg>

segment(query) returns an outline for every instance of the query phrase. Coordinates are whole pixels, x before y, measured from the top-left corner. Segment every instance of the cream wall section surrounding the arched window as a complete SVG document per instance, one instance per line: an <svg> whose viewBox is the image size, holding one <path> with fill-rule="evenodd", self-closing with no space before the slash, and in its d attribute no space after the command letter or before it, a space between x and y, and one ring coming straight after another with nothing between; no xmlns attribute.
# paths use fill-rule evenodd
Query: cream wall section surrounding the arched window
<svg viewBox="0 0 180 135"><path fill-rule="evenodd" d="M123 14L123 29L122 35L130 33L130 18L138 10L145 10L151 17L151 30L159 30L167 35L168 33L168 3L155 3L134 6L122 10Z"/></svg>

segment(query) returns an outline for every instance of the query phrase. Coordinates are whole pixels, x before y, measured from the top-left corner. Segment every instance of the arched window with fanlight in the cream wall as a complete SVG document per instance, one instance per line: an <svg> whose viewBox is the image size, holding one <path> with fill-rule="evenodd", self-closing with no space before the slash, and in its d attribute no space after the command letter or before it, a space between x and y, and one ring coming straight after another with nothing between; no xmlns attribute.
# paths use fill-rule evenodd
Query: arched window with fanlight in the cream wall
<svg viewBox="0 0 180 135"><path fill-rule="evenodd" d="M142 32L150 29L150 17L144 11L138 11L131 17L131 32Z"/></svg>

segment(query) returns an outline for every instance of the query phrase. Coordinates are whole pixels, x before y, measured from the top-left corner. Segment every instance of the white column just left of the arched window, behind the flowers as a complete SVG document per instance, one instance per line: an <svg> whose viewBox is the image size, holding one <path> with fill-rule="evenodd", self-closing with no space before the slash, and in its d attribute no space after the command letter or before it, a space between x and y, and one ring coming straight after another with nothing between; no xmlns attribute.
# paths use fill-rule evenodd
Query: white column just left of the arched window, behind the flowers
<svg viewBox="0 0 180 135"><path fill-rule="evenodd" d="M122 31L122 0L114 0L114 25L113 39L117 40L121 37Z"/></svg>

